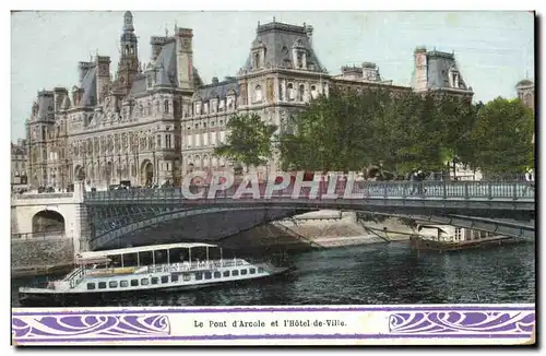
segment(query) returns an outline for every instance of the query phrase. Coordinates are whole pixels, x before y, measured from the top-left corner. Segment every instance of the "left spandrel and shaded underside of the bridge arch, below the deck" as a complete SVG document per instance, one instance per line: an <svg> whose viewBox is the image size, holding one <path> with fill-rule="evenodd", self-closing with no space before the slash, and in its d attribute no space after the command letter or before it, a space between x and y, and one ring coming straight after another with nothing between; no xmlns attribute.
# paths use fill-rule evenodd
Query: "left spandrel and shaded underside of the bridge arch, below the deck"
<svg viewBox="0 0 546 356"><path fill-rule="evenodd" d="M218 241L306 211L256 206L92 206L90 250L186 241Z"/></svg>

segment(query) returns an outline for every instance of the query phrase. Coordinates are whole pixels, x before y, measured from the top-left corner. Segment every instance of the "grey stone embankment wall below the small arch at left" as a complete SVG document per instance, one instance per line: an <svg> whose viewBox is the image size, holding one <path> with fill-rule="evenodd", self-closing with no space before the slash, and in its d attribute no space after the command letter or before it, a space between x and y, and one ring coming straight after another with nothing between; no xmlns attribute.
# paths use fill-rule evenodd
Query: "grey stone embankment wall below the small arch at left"
<svg viewBox="0 0 546 356"><path fill-rule="evenodd" d="M35 238L11 240L12 276L41 274L72 264L71 238Z"/></svg>

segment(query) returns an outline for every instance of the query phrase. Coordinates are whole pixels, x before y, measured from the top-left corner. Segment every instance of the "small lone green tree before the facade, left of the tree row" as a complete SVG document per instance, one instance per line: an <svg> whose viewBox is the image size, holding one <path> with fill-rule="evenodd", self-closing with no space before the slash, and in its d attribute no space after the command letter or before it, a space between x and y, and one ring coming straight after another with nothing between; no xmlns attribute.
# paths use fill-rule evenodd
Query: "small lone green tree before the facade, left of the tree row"
<svg viewBox="0 0 546 356"><path fill-rule="evenodd" d="M276 126L263 122L256 112L234 115L226 123L226 143L214 149L218 156L246 166L265 164L272 155L271 138Z"/></svg>

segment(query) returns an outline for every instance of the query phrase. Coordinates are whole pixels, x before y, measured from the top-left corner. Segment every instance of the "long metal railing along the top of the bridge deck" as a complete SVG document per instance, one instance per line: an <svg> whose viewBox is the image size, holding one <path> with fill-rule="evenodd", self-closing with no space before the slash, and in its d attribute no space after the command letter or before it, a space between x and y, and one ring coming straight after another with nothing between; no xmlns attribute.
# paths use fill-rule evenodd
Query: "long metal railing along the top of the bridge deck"
<svg viewBox="0 0 546 356"><path fill-rule="evenodd" d="M313 193L310 187L301 188L296 194L299 200L310 199L534 199L534 183L527 181L355 181L353 187L344 181L339 182L335 189L329 191L328 182L318 182L318 189ZM236 195L239 186L233 186L226 190L218 190L215 193L210 191L207 186L189 187L191 194L201 194L200 200L222 200L222 199L253 199L247 186L247 192ZM260 199L271 198L292 198L294 186L290 185L282 190L273 190L266 197L266 185L258 186ZM211 194L210 194L211 193ZM335 194L335 195L333 195ZM353 197L345 197L352 194ZM156 201L156 200L188 200L188 194L181 188L162 188L162 189L129 189L129 190L109 190L86 192L86 201Z"/></svg>

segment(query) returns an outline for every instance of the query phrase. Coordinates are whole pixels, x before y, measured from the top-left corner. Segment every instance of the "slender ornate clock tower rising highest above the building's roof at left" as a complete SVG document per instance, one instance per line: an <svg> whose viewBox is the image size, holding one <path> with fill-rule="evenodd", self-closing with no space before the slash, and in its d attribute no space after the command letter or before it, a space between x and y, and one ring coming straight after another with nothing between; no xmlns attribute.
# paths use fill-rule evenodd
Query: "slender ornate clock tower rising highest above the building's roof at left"
<svg viewBox="0 0 546 356"><path fill-rule="evenodd" d="M118 83L126 95L131 90L132 79L139 73L138 38L134 35L133 15L127 11L123 15L123 33L120 38L120 59L118 63Z"/></svg>

